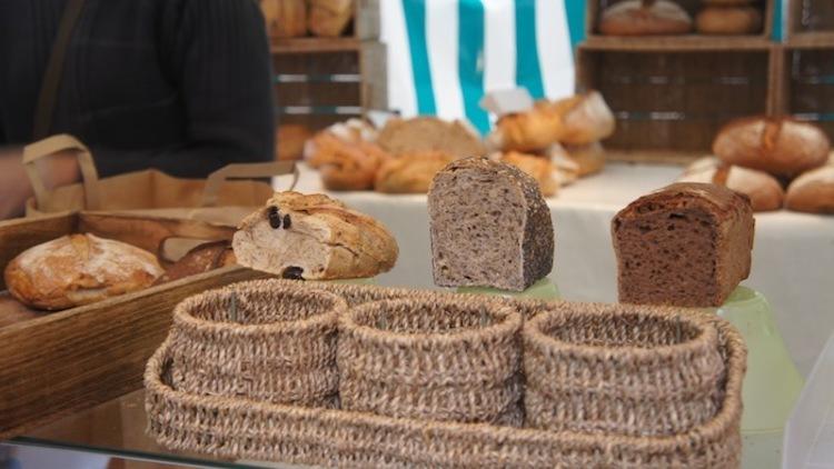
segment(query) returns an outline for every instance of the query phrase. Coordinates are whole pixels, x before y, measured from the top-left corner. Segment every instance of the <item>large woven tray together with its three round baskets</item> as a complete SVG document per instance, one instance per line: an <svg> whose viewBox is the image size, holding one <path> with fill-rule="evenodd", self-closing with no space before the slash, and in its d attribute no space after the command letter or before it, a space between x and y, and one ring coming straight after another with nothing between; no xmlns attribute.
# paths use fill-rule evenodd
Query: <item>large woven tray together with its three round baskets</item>
<svg viewBox="0 0 834 469"><path fill-rule="evenodd" d="M205 363L193 318L214 328ZM277 343L250 331L265 327ZM178 306L146 408L160 445L224 458L735 468L745 362L738 332L703 312L261 280Z"/></svg>

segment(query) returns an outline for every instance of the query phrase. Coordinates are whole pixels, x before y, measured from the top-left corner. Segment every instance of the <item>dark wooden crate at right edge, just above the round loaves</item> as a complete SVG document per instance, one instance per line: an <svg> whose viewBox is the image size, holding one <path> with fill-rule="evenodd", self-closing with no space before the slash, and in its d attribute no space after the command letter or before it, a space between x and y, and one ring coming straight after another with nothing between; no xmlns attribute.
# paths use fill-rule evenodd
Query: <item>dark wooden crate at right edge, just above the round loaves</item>
<svg viewBox="0 0 834 469"><path fill-rule="evenodd" d="M786 46L777 113L818 124L834 141L834 44Z"/></svg>

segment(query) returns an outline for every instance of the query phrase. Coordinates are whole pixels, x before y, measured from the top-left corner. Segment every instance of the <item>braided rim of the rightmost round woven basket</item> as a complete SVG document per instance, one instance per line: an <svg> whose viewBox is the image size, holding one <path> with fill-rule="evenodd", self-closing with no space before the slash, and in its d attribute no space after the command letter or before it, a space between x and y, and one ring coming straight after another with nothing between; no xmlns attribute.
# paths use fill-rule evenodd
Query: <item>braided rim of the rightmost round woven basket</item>
<svg viewBox="0 0 834 469"><path fill-rule="evenodd" d="M525 347L532 347L546 356L572 356L580 359L631 359L637 361L656 361L658 358L667 359L679 357L682 355L699 353L703 350L716 349L718 346L718 332L714 325L707 318L701 317L703 312L676 312L675 309L653 306L634 306L634 305L608 305L608 303L585 303L588 309L577 312L572 309L572 303L554 303L552 307L539 312L535 318L524 323L524 342ZM615 310L616 309L616 310ZM682 325L687 323L698 330L696 337L683 342L673 345L663 345L651 348L635 346L592 346L586 343L576 343L567 340L554 338L544 332L548 326L562 319L579 316L620 316L623 310L628 313L646 316L664 321L679 321Z"/></svg>

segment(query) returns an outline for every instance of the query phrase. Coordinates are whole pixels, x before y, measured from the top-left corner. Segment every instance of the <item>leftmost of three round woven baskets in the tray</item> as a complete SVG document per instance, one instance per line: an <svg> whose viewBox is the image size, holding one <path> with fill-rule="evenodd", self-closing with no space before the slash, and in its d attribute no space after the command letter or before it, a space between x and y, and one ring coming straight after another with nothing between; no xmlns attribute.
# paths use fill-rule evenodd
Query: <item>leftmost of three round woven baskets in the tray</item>
<svg viewBox="0 0 834 469"><path fill-rule="evenodd" d="M345 300L288 286L237 285L173 312L171 386L195 395L334 407Z"/></svg>

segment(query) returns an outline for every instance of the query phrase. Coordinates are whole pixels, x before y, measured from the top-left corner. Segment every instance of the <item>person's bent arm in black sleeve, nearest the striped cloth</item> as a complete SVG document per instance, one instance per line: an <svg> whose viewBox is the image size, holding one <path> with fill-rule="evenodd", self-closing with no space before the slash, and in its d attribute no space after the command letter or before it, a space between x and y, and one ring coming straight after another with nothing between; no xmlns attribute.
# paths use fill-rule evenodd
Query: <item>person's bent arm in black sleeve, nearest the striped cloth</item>
<svg viewBox="0 0 834 469"><path fill-rule="evenodd" d="M168 0L160 60L186 111L188 142L149 154L91 146L102 176L158 168L205 177L274 158L272 71L264 17L252 0Z"/></svg>

